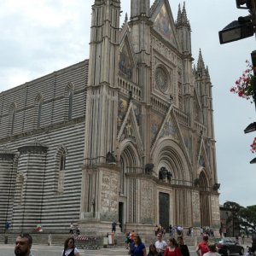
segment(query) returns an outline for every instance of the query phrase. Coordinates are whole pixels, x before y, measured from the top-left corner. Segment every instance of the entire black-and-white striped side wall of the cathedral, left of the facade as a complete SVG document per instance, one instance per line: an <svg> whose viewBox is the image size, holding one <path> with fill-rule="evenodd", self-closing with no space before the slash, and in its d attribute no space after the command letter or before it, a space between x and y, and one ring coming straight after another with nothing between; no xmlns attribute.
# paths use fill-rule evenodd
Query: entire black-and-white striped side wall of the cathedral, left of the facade
<svg viewBox="0 0 256 256"><path fill-rule="evenodd" d="M67 233L79 220L87 73L88 61L82 61L0 94L1 227L10 221L14 231L32 232L41 224Z"/></svg>

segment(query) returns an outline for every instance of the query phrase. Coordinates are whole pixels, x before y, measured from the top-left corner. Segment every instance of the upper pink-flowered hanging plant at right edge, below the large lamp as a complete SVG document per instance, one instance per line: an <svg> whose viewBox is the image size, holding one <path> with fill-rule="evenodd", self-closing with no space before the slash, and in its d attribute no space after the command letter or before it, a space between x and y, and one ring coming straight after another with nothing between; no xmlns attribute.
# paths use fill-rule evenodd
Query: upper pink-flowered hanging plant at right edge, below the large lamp
<svg viewBox="0 0 256 256"><path fill-rule="evenodd" d="M242 98L253 100L253 65L250 61L246 61L247 69L236 80L236 85L230 88L230 92L236 93Z"/></svg>

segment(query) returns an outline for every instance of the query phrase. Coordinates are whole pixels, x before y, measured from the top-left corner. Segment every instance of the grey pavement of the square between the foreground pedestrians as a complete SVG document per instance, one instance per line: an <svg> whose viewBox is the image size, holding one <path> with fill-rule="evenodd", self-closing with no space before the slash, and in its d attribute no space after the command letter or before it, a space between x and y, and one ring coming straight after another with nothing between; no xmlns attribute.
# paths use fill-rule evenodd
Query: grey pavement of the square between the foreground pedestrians
<svg viewBox="0 0 256 256"><path fill-rule="evenodd" d="M14 256L15 245L0 244L0 256ZM63 247L60 246L44 246L44 245L32 245L32 253L34 256L61 256ZM195 256L195 247L189 247L190 256ZM148 250L147 250L148 252ZM93 256L93 255L115 255L124 256L128 255L128 250L125 247L108 247L100 248L98 250L80 250L80 255Z"/></svg>

